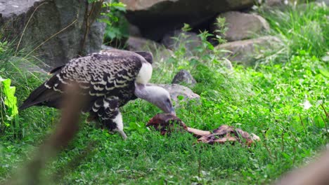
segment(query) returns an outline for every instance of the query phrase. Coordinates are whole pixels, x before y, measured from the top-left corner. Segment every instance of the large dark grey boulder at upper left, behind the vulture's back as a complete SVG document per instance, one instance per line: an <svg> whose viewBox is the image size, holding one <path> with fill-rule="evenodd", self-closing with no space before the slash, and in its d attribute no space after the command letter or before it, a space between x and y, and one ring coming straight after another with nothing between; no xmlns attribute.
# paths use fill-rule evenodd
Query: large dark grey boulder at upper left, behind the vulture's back
<svg viewBox="0 0 329 185"><path fill-rule="evenodd" d="M101 50L105 24L96 21L101 3L93 4L89 15L91 6L87 0L0 0L0 26L10 33L7 39L18 43L22 36L25 53L34 51L47 67L56 67Z"/></svg>

